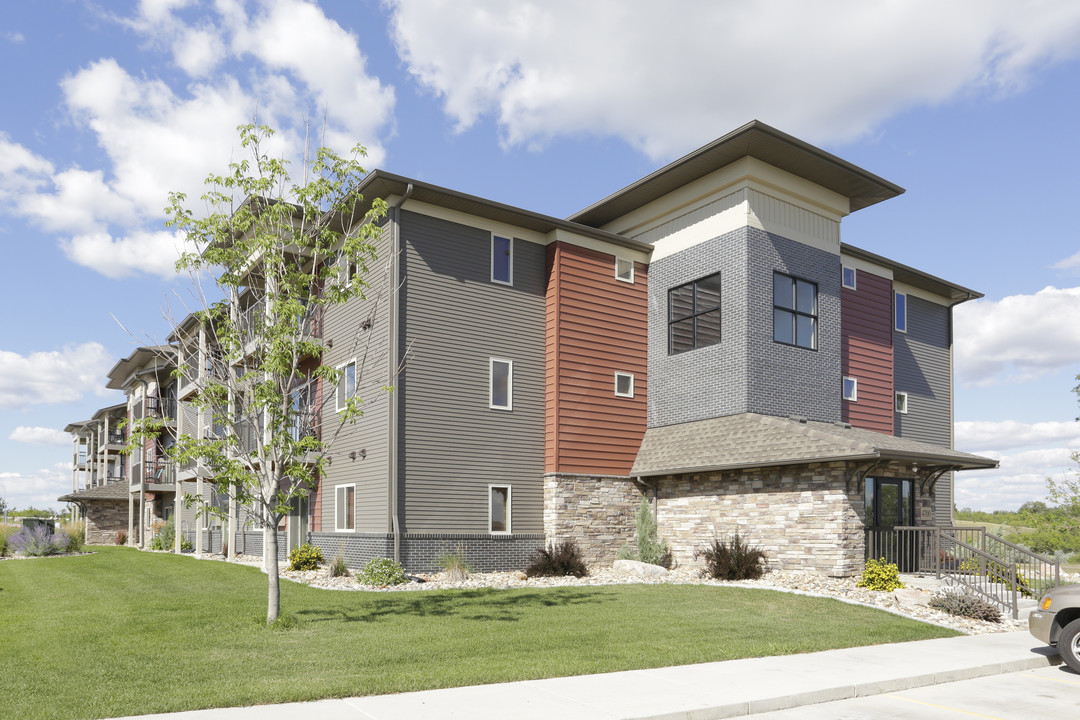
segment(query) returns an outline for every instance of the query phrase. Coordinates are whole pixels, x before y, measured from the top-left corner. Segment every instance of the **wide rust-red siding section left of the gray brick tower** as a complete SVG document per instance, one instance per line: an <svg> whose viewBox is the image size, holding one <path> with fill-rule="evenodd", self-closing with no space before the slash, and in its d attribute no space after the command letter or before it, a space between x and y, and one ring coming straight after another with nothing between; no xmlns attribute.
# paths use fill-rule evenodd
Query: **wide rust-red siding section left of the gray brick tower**
<svg viewBox="0 0 1080 720"><path fill-rule="evenodd" d="M615 279L615 256L548 246L544 471L627 475L646 422L647 266ZM615 373L634 397L615 396Z"/></svg>

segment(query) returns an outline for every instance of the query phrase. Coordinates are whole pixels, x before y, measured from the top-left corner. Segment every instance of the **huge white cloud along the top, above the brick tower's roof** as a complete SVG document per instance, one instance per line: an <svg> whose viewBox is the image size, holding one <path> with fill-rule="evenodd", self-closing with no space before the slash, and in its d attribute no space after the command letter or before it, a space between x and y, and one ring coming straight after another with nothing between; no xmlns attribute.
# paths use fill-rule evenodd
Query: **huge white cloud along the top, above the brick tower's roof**
<svg viewBox="0 0 1080 720"><path fill-rule="evenodd" d="M508 145L595 133L654 159L752 118L851 140L960 92L1023 87L1080 45L1071 0L387 4L400 56L459 128L490 116Z"/></svg>

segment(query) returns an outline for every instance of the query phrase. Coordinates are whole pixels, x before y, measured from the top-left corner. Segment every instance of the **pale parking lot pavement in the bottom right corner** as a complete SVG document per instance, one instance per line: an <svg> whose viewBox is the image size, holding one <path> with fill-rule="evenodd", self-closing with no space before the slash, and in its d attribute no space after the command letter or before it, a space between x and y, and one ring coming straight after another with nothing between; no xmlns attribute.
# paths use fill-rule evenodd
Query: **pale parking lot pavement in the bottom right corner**
<svg viewBox="0 0 1080 720"><path fill-rule="evenodd" d="M1066 720L1080 718L1080 675L1064 665L805 705L754 720Z"/></svg>

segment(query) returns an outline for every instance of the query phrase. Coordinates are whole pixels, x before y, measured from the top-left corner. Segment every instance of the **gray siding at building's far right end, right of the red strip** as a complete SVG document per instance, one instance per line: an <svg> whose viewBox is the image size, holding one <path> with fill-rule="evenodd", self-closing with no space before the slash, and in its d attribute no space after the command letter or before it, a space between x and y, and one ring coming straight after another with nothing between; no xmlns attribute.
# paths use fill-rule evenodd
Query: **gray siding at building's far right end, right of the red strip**
<svg viewBox="0 0 1080 720"><path fill-rule="evenodd" d="M895 415L896 435L953 447L951 310L907 296L907 332L893 334L896 392L907 393L907 413ZM937 480L934 521L951 522L949 473Z"/></svg>

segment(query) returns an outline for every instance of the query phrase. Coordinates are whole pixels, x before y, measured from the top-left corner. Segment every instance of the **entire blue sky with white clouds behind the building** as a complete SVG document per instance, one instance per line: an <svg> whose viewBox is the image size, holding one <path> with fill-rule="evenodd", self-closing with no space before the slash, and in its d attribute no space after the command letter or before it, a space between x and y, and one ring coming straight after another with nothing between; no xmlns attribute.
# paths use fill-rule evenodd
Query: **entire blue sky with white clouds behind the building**
<svg viewBox="0 0 1080 720"><path fill-rule="evenodd" d="M907 189L846 242L986 295L956 327L959 449L1016 507L1080 423L1080 5L595 0L11 3L0 18L0 494L58 506L63 427L183 315L170 190L256 111L382 167L567 216L757 118ZM926 22L932 13L933 23ZM126 328L126 329L125 329Z"/></svg>

